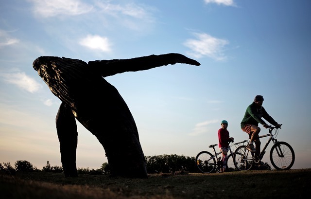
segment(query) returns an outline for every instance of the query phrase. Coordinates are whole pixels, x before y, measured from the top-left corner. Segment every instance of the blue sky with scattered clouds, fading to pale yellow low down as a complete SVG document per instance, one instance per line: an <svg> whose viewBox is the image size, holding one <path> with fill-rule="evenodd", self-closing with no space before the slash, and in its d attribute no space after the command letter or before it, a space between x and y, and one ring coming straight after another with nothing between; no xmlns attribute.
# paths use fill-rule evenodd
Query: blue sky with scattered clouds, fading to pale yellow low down
<svg viewBox="0 0 311 199"><path fill-rule="evenodd" d="M0 163L61 166L55 127L61 102L33 69L35 58L180 53L201 66L105 78L130 108L146 156L209 150L221 120L235 142L243 141L240 122L260 94L283 124L277 139L294 148L293 168L309 168L310 10L310 0L1 0ZM80 124L78 133L77 167L99 168L104 148ZM270 163L269 156L263 161Z"/></svg>

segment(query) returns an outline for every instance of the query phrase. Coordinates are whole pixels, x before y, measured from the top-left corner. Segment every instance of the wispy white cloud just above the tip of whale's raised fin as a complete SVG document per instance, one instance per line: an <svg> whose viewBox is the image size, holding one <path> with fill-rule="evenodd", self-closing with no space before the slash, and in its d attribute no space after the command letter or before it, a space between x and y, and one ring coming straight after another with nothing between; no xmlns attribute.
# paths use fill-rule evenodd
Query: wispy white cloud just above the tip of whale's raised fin
<svg viewBox="0 0 311 199"><path fill-rule="evenodd" d="M206 33L194 33L194 36L197 39L187 39L184 43L185 46L191 49L188 54L196 58L208 56L218 61L226 59L223 51L225 45L229 43L227 40L219 39Z"/></svg>

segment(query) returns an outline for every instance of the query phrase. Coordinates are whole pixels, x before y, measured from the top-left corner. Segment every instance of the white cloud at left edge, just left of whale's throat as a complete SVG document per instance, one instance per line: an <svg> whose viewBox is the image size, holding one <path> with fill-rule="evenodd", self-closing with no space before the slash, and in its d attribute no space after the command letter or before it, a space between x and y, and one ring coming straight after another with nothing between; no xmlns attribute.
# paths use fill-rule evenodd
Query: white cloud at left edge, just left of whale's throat
<svg viewBox="0 0 311 199"><path fill-rule="evenodd" d="M3 80L7 83L14 84L17 87L34 93L38 91L42 86L37 83L33 78L27 76L24 72L17 73L3 73L0 74Z"/></svg>

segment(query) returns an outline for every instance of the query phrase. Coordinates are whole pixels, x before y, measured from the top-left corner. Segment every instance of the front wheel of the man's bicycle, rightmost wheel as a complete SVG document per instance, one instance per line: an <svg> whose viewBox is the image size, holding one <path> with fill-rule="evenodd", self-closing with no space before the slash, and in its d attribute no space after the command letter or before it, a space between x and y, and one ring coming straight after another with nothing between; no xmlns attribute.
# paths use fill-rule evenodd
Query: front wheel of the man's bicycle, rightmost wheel
<svg viewBox="0 0 311 199"><path fill-rule="evenodd" d="M277 142L271 148L270 161L278 170L290 169L295 162L294 149L286 142Z"/></svg>

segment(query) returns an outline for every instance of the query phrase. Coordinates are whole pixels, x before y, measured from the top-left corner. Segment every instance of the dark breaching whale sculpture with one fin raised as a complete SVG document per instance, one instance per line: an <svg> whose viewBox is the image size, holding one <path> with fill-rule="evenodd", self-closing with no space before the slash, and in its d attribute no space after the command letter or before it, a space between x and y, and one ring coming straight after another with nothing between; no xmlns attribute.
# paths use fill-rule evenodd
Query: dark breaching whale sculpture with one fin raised
<svg viewBox="0 0 311 199"><path fill-rule="evenodd" d="M65 177L76 177L77 119L103 145L112 176L147 178L144 154L134 118L104 77L168 64L200 63L182 54L160 54L88 63L65 57L40 56L34 69L61 101L56 115L61 162Z"/></svg>

